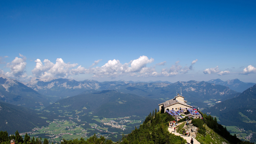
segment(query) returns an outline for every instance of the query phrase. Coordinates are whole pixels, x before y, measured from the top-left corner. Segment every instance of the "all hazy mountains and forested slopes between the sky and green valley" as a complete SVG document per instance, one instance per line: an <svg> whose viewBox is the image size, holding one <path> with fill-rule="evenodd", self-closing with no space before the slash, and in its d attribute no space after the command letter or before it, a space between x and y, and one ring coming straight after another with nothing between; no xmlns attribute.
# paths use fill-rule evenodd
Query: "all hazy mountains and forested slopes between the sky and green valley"
<svg viewBox="0 0 256 144"><path fill-rule="evenodd" d="M61 118L79 117L82 121L90 123L95 122L93 116L120 117L136 115L143 119L152 109L158 109L159 103L173 99L177 93L182 93L189 105L205 108L203 112L218 116L221 124L231 124L229 121L238 117L236 121L233 120L234 123L232 124L249 127L248 129L256 131L254 130L255 126L253 126L256 123L256 114L254 113L256 112L254 106L256 98L254 98L255 93L253 93L255 92L255 86L238 93L224 84L218 79L211 80L211 82L192 80L176 83L158 81L145 83L123 80L111 82L76 81L55 78L32 79L30 82L22 84L15 79L0 76L0 116L3 120L0 122L1 125L6 122L8 124L11 119L17 119L17 117L8 116L8 111L12 112L14 116L19 116L20 120L19 118L17 121L13 120L17 127L24 122L22 120L29 121L26 117L29 119L35 117L37 123L31 121L34 126L43 125L45 123L43 118L50 120L58 119L60 116ZM246 84L251 83L232 80L227 84L233 84L233 87L236 85L236 88L242 89L249 86ZM248 95L251 97L248 97ZM216 103L217 101L222 102ZM237 106L244 107L238 108ZM38 114L30 108L36 109ZM228 118L226 118L227 116ZM5 124L3 126L10 127L11 125ZM7 129L3 126L0 128L1 130ZM28 125L26 127L31 128L33 126ZM20 132L24 132L21 129Z"/></svg>

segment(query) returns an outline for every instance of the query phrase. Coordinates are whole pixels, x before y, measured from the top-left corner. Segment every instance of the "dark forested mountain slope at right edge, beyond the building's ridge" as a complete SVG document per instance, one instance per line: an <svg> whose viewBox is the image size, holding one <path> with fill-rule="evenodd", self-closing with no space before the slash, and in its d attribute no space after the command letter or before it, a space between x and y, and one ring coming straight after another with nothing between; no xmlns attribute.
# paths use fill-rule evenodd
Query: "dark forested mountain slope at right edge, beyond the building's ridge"
<svg viewBox="0 0 256 144"><path fill-rule="evenodd" d="M222 101L202 112L219 117L220 124L256 131L256 85L237 97Z"/></svg>

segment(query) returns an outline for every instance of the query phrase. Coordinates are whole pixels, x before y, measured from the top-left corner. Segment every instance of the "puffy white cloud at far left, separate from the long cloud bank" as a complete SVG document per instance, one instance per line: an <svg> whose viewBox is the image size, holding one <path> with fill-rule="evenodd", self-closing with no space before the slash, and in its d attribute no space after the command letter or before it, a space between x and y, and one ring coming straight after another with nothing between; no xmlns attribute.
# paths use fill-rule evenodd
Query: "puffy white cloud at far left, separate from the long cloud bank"
<svg viewBox="0 0 256 144"><path fill-rule="evenodd" d="M20 57L15 57L12 62L7 63L6 67L10 68L10 72L5 73L8 77L27 77L26 72L26 60L27 58L22 54L19 54Z"/></svg>

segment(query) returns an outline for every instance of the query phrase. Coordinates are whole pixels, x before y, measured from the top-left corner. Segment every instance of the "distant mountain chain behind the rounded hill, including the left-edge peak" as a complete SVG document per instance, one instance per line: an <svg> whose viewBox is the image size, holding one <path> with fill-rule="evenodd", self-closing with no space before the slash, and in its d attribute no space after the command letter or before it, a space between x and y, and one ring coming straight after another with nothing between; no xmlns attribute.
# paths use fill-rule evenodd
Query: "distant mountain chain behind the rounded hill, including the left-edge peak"
<svg viewBox="0 0 256 144"><path fill-rule="evenodd" d="M0 100L27 108L42 109L57 100L79 95L83 92L88 93L92 90L115 90L152 99L167 100L172 99L178 92L180 93L181 89L183 96L190 102L190 105L205 108L209 106L209 103L205 101L214 104L219 100L227 100L237 96L237 94L234 95L236 93L234 90L224 85L226 83L227 81L224 83L220 79L209 82L178 81L176 83L164 83L155 81L141 83L124 80L98 82L94 80L33 78L30 82L22 84L15 79L0 76ZM235 79L227 84L233 84L233 87L242 89L252 83L244 83Z"/></svg>

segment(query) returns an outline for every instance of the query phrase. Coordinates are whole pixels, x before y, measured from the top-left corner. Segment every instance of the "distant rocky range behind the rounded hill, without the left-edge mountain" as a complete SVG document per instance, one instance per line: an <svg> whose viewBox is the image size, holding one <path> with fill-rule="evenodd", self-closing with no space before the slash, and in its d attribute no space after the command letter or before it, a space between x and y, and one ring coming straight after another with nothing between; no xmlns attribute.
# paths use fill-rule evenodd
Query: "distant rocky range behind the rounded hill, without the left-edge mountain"
<svg viewBox="0 0 256 144"><path fill-rule="evenodd" d="M211 84L207 82L188 81L176 83L151 82L151 83L131 83L126 81L98 82L94 80L75 81L69 79L53 79L43 81L35 79L26 84L35 91L47 96L59 98L78 95L87 90L116 90L123 93L132 93L138 96L153 99L172 99L177 91L182 90L186 100L192 102L197 107L208 107L205 100L220 100L230 94L236 93L227 86Z"/></svg>

